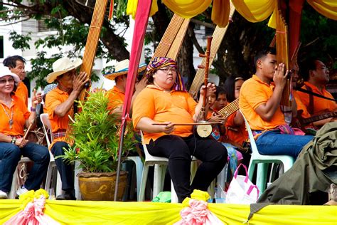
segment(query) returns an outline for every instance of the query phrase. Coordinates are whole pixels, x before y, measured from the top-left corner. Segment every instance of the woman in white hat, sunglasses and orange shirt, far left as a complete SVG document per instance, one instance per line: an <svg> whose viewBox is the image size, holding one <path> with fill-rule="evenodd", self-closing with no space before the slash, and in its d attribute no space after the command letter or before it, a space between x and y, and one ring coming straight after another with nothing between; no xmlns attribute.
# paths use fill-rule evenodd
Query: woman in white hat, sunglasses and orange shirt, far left
<svg viewBox="0 0 337 225"><path fill-rule="evenodd" d="M21 155L29 157L34 164L25 184L16 191L18 195L40 189L50 160L46 147L23 139L24 127L35 124L36 104L42 98L41 94L34 95L31 113L28 112L25 103L14 95L18 82L18 75L7 67L0 67L0 199L8 197Z"/></svg>

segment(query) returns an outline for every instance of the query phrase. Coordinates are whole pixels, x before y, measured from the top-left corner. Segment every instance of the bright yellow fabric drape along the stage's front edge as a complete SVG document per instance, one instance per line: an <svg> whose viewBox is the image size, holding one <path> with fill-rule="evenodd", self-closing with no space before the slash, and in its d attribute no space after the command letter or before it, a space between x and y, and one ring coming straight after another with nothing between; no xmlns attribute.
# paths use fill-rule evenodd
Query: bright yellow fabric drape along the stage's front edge
<svg viewBox="0 0 337 225"><path fill-rule="evenodd" d="M21 208L18 200L0 200L0 224ZM249 205L208 204L224 224L242 224ZM182 204L154 202L91 202L46 200L45 214L60 224L173 224L181 219ZM336 224L337 206L270 205L250 224Z"/></svg>

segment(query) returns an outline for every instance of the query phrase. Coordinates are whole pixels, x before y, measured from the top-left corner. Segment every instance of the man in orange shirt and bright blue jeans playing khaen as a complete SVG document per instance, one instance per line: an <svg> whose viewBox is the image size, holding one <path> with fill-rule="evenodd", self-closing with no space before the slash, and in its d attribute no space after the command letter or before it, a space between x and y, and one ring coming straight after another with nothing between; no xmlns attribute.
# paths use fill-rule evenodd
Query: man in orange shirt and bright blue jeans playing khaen
<svg viewBox="0 0 337 225"><path fill-rule="evenodd" d="M262 155L290 155L296 158L312 136L294 135L280 108L287 73L284 64L277 65L276 51L268 48L255 56L256 73L243 83L240 90L240 110L257 137L257 149ZM296 104L293 104L296 115ZM287 128L282 134L279 128ZM284 130L284 129L282 129Z"/></svg>

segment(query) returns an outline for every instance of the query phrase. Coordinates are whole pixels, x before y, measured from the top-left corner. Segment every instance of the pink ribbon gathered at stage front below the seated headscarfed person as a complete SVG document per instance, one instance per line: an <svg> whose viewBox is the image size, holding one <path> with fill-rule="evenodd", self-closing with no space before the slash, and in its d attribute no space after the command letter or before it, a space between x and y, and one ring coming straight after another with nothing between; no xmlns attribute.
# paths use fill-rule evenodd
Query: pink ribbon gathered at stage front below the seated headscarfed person
<svg viewBox="0 0 337 225"><path fill-rule="evenodd" d="M185 224L223 224L218 217L216 217L209 209L208 203L205 201L198 201L190 199L188 202L190 206L181 209L181 220L176 222L175 225Z"/></svg>

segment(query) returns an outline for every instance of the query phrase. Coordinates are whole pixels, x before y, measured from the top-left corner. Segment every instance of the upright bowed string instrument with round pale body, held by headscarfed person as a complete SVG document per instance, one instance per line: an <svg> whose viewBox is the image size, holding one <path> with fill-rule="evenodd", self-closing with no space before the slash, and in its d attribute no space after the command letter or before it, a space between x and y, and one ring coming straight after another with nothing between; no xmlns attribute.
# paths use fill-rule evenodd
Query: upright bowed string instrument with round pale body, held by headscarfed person
<svg viewBox="0 0 337 225"><path fill-rule="evenodd" d="M205 66L203 65L199 65L198 68L203 68L205 69L205 78L204 78L204 82L203 85L205 85L205 87L207 87L208 85L208 73L210 70L210 45L212 43L212 38L211 36L207 37L207 48L206 48L206 52L205 54L199 54L199 57L205 58L206 59L206 63ZM205 89L205 94L203 95L203 107L200 110L200 117L201 120L199 122L207 122L206 121L206 102L207 102L207 88ZM198 135L200 137L208 137L211 133L212 133L212 126L211 125L197 125L196 126L196 132L198 133Z"/></svg>

